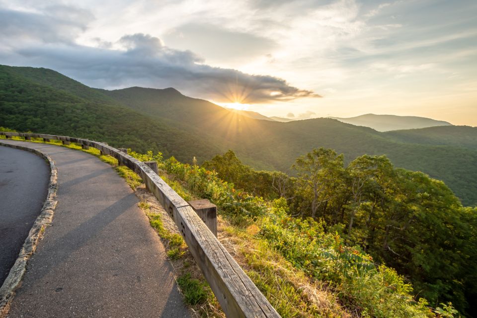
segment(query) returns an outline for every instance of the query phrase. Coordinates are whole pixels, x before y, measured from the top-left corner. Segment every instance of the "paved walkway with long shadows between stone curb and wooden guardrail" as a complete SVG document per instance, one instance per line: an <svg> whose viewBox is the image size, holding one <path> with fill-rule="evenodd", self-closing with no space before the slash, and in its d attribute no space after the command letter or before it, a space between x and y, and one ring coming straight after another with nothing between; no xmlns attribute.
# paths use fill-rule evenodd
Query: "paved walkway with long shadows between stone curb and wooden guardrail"
<svg viewBox="0 0 477 318"><path fill-rule="evenodd" d="M8 142L52 157L58 204L7 317L190 317L161 241L108 164L64 147Z"/></svg>

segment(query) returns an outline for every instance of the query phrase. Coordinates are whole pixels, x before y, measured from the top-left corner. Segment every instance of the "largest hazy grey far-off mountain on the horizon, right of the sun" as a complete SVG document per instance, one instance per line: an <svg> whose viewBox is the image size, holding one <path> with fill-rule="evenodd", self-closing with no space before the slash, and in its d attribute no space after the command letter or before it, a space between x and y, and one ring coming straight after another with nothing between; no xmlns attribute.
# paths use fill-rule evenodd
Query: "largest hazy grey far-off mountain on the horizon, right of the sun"
<svg viewBox="0 0 477 318"><path fill-rule="evenodd" d="M418 129L433 126L450 126L451 123L441 120L434 120L416 116L396 116L396 115L375 115L366 114L357 117L339 118L328 117L340 122L373 128L374 130L385 132L400 129Z"/></svg>

